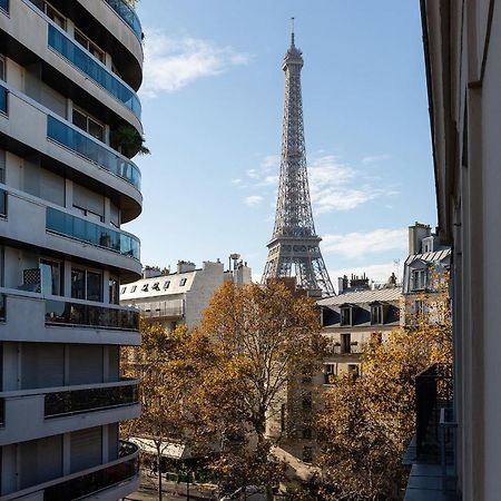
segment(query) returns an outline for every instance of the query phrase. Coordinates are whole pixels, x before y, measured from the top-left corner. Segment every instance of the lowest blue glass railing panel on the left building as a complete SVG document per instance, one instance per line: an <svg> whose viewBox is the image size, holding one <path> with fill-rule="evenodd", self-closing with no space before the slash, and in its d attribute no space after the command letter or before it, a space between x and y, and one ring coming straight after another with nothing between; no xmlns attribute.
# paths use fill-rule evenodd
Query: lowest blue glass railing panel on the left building
<svg viewBox="0 0 501 501"><path fill-rule="evenodd" d="M139 238L81 217L47 207L46 228L139 261Z"/></svg>

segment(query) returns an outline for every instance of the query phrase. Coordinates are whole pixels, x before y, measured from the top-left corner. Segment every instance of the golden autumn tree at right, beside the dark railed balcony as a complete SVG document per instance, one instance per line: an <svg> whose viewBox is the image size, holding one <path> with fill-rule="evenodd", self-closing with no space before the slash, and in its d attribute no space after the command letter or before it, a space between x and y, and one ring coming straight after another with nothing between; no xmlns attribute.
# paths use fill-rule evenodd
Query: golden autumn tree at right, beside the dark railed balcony
<svg viewBox="0 0 501 501"><path fill-rule="evenodd" d="M362 377L346 375L325 395L318 420L325 499L397 500L405 487L403 453L415 430L415 375L432 363L451 363L452 330L446 281L405 326L362 355Z"/></svg>

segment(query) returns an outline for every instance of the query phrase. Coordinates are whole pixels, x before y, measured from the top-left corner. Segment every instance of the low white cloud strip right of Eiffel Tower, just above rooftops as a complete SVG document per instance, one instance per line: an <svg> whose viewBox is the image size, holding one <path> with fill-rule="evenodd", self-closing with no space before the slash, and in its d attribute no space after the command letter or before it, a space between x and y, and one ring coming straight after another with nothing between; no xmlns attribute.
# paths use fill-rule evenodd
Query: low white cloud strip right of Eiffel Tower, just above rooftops
<svg viewBox="0 0 501 501"><path fill-rule="evenodd" d="M360 258L381 252L403 252L407 247L407 229L374 229L367 233L324 235L322 250L342 257Z"/></svg>

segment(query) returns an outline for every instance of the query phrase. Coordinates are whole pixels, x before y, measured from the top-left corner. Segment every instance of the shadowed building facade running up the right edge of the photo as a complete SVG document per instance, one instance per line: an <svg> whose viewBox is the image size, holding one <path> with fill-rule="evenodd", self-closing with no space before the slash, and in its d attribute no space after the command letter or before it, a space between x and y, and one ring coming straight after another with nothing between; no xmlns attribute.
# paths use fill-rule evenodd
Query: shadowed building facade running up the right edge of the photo
<svg viewBox="0 0 501 501"><path fill-rule="evenodd" d="M405 499L494 501L501 492L501 4L422 0L421 12L439 236L452 246L454 367L452 412L440 409L438 423L418 415L418 431L423 424L440 431L443 453L434 465L430 458L428 465L414 463ZM436 371L432 391L440 391Z"/></svg>

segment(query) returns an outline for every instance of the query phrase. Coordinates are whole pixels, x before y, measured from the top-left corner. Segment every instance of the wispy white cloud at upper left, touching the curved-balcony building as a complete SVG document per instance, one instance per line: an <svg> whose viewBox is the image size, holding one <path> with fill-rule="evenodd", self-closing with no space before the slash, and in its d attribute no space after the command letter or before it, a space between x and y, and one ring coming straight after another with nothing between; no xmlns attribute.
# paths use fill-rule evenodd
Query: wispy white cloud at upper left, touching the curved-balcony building
<svg viewBox="0 0 501 501"><path fill-rule="evenodd" d="M233 66L247 65L250 55L209 40L169 37L161 30L146 30L144 82L141 95L157 97L174 92L193 81L219 75Z"/></svg>

